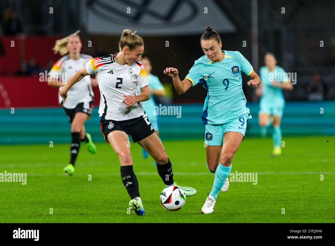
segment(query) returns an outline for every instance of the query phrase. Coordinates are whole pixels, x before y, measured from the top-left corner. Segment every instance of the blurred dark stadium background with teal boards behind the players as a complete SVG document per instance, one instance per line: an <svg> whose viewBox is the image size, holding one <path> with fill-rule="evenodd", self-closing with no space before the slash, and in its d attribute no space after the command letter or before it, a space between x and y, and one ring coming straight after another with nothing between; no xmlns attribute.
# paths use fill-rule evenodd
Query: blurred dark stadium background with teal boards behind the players
<svg viewBox="0 0 335 246"><path fill-rule="evenodd" d="M108 3L106 11L110 10L115 15L119 11L116 6L119 5L131 6L135 15L132 15L129 22L123 19L121 25L118 23L117 27L106 29L104 33L92 32L88 24L98 26L101 23L89 23L87 9L94 9L95 4L104 2ZM118 52L118 40L123 28L135 31L133 21L143 21L144 17L140 15L145 15L152 2L154 1L0 0L0 144L48 143L50 139L69 142L70 124L58 105L58 90L39 80L39 73L49 71L52 64L60 58L51 50L55 40L80 29L82 53L96 57ZM199 1L196 0L164 1L164 5L176 4L177 9L190 2L193 6L197 2L199 7ZM233 31L224 31L229 23L220 22L212 16L213 21L199 22L198 31L194 33L183 29L183 23L174 26L174 33L170 33L170 29L166 29L163 34L161 30L160 34L137 32L144 38L144 55L149 56L153 62L152 74L159 77L167 91L167 96L159 98L158 103L182 106L181 118L175 115L160 116L161 138L203 137L201 112L206 90L197 85L187 93L178 95L173 88L172 79L164 76L163 70L173 66L179 69L181 78L186 76L194 61L203 55L199 39L207 25L219 31L222 49L240 51L257 73L259 67L264 66L264 54L273 52L279 66L286 72L297 74L293 90L284 93L284 136L334 135L334 2L211 0L205 1L203 6L200 4L194 16L188 17L186 21L204 14L203 7L207 3L233 23ZM52 14L50 7L53 8ZM285 13L282 13L282 7L285 8ZM157 12L163 12L163 9L164 6L161 6ZM210 11L212 9L209 7L208 15ZM109 21L111 15L99 17ZM165 21L168 24L169 21ZM110 20L111 26L114 22L114 19ZM123 28L120 28L122 24ZM154 24L152 28L152 32L156 33L155 30L159 31L160 27ZM166 40L169 41L169 47L165 47ZM11 47L12 41L14 47ZM88 41L92 42L92 47L88 47ZM243 47L244 41L246 47ZM320 47L321 41L323 47ZM259 136L258 98L246 82L247 77L244 76L243 89L253 116L249 121L247 135ZM318 85L318 89L314 88L315 85ZM86 128L94 141L103 142L98 126L97 88L94 88L94 93L96 106ZM324 109L323 114L320 113L321 108ZM13 109L15 113L11 113Z"/></svg>

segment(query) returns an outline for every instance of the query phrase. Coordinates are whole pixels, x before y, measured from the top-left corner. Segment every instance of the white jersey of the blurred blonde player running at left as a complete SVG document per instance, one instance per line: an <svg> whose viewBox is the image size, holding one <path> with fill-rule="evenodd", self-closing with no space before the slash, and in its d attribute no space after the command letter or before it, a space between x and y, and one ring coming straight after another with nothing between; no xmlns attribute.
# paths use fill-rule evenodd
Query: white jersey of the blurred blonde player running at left
<svg viewBox="0 0 335 246"><path fill-rule="evenodd" d="M82 69L91 59L93 59L91 56L84 54L80 54L79 60L72 60L69 55L65 55L54 64L50 70L50 75L56 80L67 82L75 72ZM65 103L63 103L63 98L58 95L59 103L68 109L75 108L81 102L93 101L93 98L94 94L89 76L85 76L69 89Z"/></svg>

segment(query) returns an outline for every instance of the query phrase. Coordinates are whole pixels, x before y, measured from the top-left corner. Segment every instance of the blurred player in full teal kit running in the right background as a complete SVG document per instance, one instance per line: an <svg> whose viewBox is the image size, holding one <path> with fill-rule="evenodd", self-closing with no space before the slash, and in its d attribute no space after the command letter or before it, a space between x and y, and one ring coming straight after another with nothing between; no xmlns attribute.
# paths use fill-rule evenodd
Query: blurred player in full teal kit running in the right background
<svg viewBox="0 0 335 246"><path fill-rule="evenodd" d="M265 66L259 69L262 83L256 89L257 95L261 96L258 121L262 128L262 136L265 136L266 128L271 124L270 116L273 116L272 155L279 156L281 154L280 121L285 107L283 89L292 90L293 85L284 69L276 65L277 60L273 53L265 54L264 63Z"/></svg>

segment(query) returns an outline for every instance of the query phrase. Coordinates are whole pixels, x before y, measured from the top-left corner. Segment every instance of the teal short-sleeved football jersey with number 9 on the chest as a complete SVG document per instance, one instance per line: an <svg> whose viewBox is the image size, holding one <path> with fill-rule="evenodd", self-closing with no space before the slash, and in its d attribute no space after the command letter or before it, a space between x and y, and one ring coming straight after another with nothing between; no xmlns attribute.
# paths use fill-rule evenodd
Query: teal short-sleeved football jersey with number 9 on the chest
<svg viewBox="0 0 335 246"><path fill-rule="evenodd" d="M200 57L186 76L193 86L200 82L208 91L201 116L203 124L224 124L240 116L252 118L242 90L241 71L249 76L253 67L238 51L222 52L224 59L219 63L206 55Z"/></svg>

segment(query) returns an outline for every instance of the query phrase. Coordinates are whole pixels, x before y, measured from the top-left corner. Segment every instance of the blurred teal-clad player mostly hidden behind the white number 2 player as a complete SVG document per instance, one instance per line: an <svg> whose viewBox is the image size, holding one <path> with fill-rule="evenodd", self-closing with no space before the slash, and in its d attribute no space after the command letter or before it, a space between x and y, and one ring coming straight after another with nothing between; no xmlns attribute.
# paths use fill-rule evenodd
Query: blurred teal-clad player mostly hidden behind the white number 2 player
<svg viewBox="0 0 335 246"><path fill-rule="evenodd" d="M158 120L159 120L158 117L159 116L154 113L154 107L157 105L155 102L155 97L165 96L166 93L158 77L151 74L151 70L152 70L151 60L148 57L143 57L141 62L143 63L145 71L147 73L148 85L149 85L149 90L150 90L150 99L143 102L143 109L145 111L145 114L148 115L151 125L153 129L155 129L155 132L159 138L159 134L158 134ZM141 91L139 86L137 86L137 90ZM148 152L146 152L145 149L142 149L142 155L144 158L147 158L149 156Z"/></svg>

